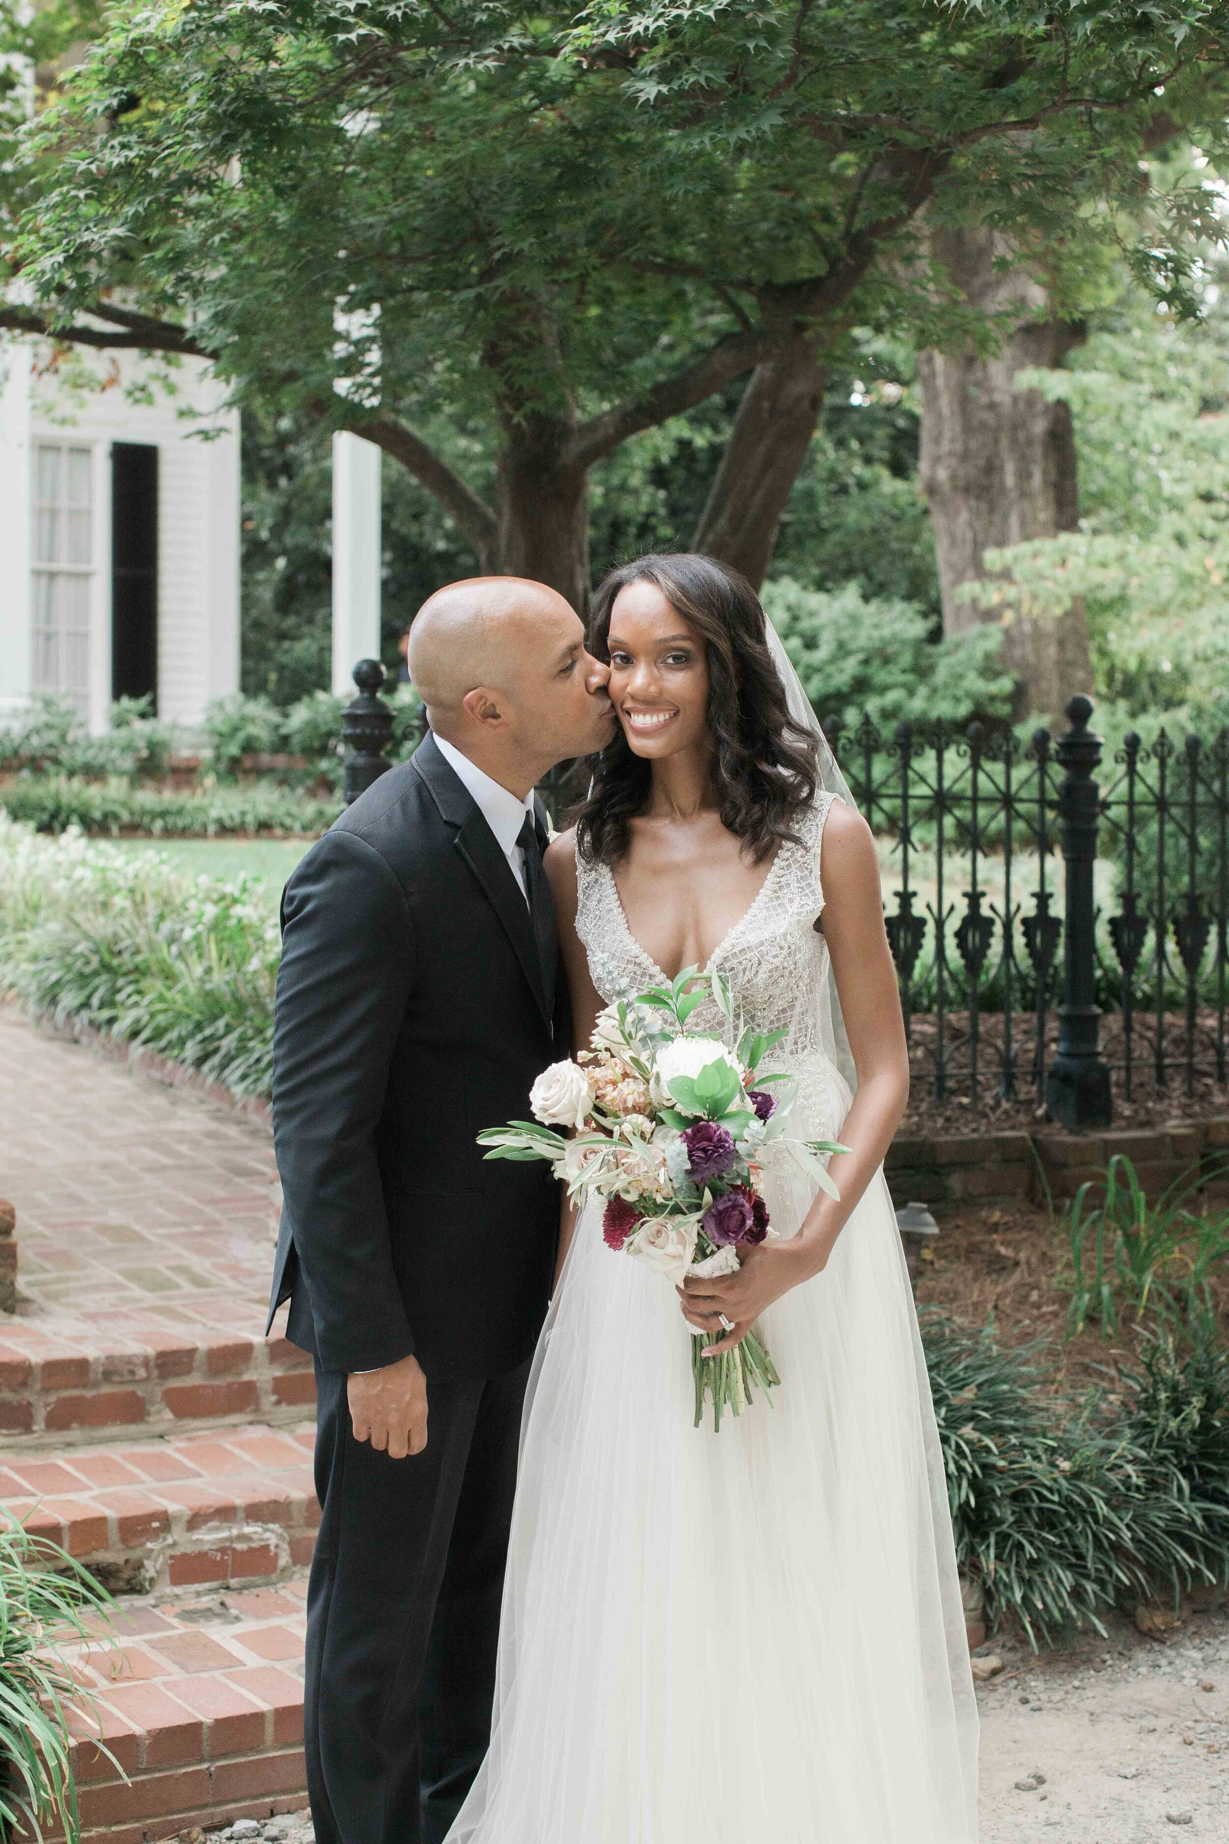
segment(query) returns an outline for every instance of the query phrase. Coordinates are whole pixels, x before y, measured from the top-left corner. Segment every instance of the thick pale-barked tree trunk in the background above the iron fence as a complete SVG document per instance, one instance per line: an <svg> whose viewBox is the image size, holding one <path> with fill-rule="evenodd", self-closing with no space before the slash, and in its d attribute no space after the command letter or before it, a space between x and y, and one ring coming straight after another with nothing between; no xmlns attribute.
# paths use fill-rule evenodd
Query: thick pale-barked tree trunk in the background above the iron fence
<svg viewBox="0 0 1229 1844"><path fill-rule="evenodd" d="M921 483L931 500L934 550L943 596L943 632L999 621L999 610L956 601L962 583L984 581L988 550L1052 538L1078 522L1076 446L1067 404L1039 391L1013 389L1026 365L1054 369L1080 343L1080 328L1041 319L1047 293L1023 267L995 269L1012 258L999 232L932 230L931 253L977 308L1006 317L989 358L967 350L919 356ZM1002 631L1002 662L1019 679L1019 714L1058 717L1074 692L1089 692L1089 636L1083 603L1058 618L1015 616Z"/></svg>

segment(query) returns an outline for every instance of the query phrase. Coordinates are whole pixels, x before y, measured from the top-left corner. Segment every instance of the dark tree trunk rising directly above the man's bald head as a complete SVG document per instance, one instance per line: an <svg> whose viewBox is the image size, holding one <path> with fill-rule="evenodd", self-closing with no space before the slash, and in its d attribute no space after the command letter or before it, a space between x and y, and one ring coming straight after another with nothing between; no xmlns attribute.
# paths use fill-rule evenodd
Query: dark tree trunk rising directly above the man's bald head
<svg viewBox="0 0 1229 1844"><path fill-rule="evenodd" d="M558 459L568 424L514 430L499 455L494 570L533 577L590 609L590 474Z"/></svg>

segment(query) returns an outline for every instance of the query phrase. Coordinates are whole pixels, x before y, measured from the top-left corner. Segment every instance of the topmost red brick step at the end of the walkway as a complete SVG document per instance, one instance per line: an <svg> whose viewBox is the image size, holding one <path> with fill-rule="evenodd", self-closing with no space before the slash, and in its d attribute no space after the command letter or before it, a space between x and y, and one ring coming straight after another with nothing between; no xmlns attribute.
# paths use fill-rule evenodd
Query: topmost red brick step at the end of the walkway
<svg viewBox="0 0 1229 1844"><path fill-rule="evenodd" d="M287 1339L166 1326L109 1335L79 1318L18 1317L0 1330L0 1435L9 1451L300 1422L313 1403L311 1359Z"/></svg>

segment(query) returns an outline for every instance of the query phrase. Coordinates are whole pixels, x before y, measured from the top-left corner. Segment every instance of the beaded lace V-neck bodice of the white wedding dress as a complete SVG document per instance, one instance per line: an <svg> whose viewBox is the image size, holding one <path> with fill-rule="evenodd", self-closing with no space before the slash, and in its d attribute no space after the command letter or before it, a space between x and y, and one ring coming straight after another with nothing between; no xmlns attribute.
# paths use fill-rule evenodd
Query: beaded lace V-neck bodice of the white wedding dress
<svg viewBox="0 0 1229 1844"><path fill-rule="evenodd" d="M759 1031L787 1031L778 1055L824 1053L820 1020L827 983L827 946L814 920L824 907L820 841L833 795L820 795L798 824L800 843L778 848L772 869L750 909L713 950L709 970L726 975L735 1003ZM586 865L577 856L577 935L590 957L590 975L601 998L630 999L647 987L669 985L656 961L628 928L608 865ZM711 999L693 1014L691 1029L720 1034L722 1020Z"/></svg>

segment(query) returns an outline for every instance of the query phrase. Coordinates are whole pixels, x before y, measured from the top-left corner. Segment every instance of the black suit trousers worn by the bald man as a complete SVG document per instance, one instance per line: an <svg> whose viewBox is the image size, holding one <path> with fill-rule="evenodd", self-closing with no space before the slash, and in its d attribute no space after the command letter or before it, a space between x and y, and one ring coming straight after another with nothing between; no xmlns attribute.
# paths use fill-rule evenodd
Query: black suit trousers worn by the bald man
<svg viewBox="0 0 1229 1844"><path fill-rule="evenodd" d="M529 1365L427 1372L427 1446L356 1440L317 1365L304 1728L317 1844L442 1844L490 1741Z"/></svg>

